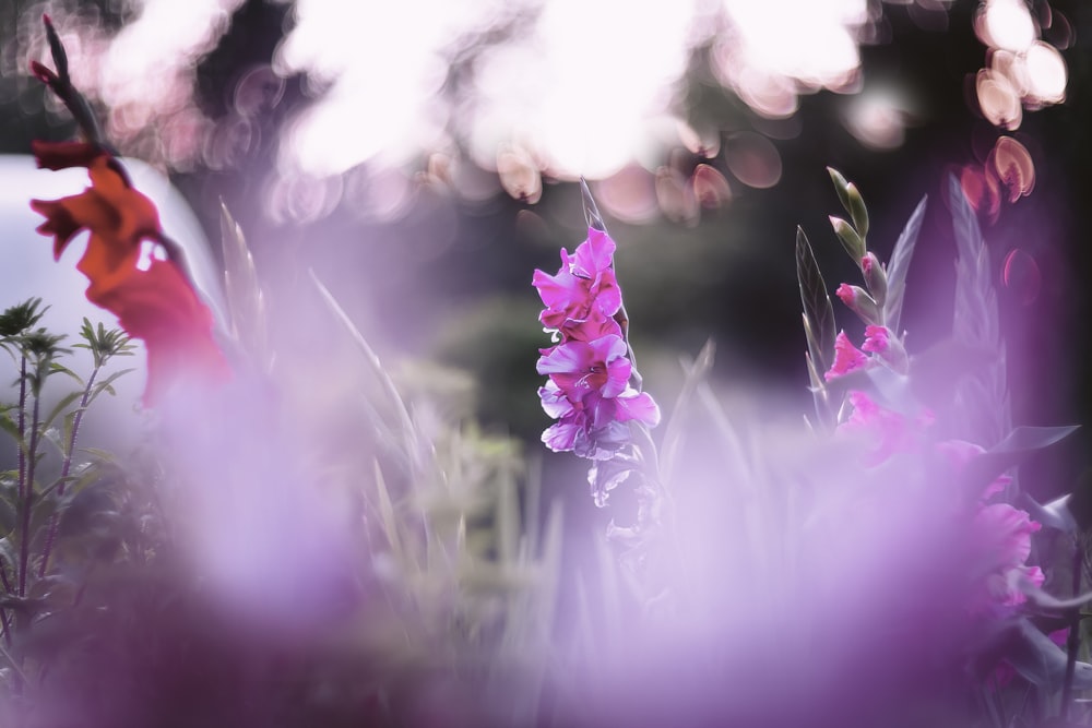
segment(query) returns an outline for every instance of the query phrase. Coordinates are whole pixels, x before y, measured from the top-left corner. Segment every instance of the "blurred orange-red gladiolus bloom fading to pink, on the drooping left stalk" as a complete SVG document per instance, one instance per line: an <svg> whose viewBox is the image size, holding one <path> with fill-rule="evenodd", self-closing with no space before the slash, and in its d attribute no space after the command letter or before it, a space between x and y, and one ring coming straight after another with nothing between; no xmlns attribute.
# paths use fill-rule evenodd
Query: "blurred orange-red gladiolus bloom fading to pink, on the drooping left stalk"
<svg viewBox="0 0 1092 728"><path fill-rule="evenodd" d="M173 261L152 258L141 270L141 243L166 240L151 200L132 188L124 169L105 151L75 142L35 142L38 166L86 167L91 187L60 200L32 200L46 217L38 232L54 236L60 259L73 236L91 232L76 270L87 276L87 300L118 317L147 347L144 403L154 402L181 375L223 381L229 369L212 334L213 318Z"/></svg>

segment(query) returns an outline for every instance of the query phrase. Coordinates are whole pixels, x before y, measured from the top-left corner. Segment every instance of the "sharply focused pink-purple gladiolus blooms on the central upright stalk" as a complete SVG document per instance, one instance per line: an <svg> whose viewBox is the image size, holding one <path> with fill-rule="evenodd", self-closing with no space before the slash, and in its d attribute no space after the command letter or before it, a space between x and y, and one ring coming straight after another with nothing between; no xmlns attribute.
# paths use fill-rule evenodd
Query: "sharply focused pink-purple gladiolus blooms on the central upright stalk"
<svg viewBox="0 0 1092 728"><path fill-rule="evenodd" d="M606 232L590 228L571 255L561 250L556 275L536 270L533 278L546 307L539 321L558 339L538 359L538 373L549 375L538 396L558 420L543 432L543 442L594 461L610 460L629 444L631 421L660 422L656 403L629 383L632 362L616 320L621 290L614 251Z"/></svg>

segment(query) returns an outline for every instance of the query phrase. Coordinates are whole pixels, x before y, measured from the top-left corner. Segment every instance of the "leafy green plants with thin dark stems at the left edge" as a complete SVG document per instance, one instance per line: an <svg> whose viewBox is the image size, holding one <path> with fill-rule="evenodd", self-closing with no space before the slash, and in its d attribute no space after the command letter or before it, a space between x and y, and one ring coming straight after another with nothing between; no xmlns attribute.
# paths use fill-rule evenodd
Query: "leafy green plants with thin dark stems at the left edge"
<svg viewBox="0 0 1092 728"><path fill-rule="evenodd" d="M112 382L124 373L100 378L104 367L133 347L121 332L85 319L83 342L75 345L93 357L84 380L58 361L70 354L60 346L63 336L37 327L40 302L31 299L0 314L0 346L19 372L17 401L0 408L0 428L19 454L19 467L0 474L0 642L11 668L3 689L14 694L47 669L32 648L43 624L71 607L91 564L110 562L120 546L116 468L97 455L80 455L76 442L87 407L103 392L112 394ZM79 389L45 392L56 373Z"/></svg>

